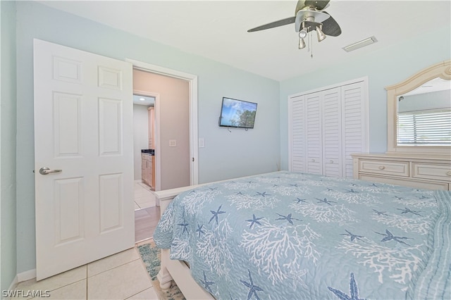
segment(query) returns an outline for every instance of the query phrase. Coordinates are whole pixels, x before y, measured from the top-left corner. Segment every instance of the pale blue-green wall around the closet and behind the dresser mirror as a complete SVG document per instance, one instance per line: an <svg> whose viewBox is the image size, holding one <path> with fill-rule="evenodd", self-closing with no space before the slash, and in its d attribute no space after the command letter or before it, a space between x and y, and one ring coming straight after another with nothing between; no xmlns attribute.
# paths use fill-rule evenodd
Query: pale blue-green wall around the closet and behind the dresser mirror
<svg viewBox="0 0 451 300"><path fill-rule="evenodd" d="M371 46L371 45L370 45ZM356 50L359 51L359 50ZM369 80L369 150L387 150L387 94L420 70L451 57L451 26L434 28L365 56L340 61L329 68L280 82L280 161L288 170L288 96L359 77ZM315 59L315 58L313 58Z"/></svg>

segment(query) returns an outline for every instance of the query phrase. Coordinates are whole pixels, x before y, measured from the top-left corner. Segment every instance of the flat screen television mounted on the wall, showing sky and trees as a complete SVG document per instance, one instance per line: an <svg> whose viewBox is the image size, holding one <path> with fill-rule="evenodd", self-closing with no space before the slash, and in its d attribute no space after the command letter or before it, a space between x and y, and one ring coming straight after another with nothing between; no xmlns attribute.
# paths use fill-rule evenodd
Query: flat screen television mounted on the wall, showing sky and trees
<svg viewBox="0 0 451 300"><path fill-rule="evenodd" d="M254 128L257 103L223 97L219 126Z"/></svg>

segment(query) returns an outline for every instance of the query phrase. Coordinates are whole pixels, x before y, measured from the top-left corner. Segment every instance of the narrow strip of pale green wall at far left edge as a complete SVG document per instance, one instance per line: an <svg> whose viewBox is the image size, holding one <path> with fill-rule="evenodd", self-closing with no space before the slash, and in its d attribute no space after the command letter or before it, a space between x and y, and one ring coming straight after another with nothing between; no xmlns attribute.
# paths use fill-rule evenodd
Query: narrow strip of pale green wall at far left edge
<svg viewBox="0 0 451 300"><path fill-rule="evenodd" d="M17 273L16 4L0 1L0 291ZM0 296L1 297L1 296Z"/></svg>

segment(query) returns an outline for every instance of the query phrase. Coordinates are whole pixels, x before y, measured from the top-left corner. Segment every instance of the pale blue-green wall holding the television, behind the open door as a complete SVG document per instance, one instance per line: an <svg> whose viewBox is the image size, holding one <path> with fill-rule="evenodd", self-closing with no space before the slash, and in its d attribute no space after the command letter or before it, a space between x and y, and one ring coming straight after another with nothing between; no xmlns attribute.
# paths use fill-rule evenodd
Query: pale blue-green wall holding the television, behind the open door
<svg viewBox="0 0 451 300"><path fill-rule="evenodd" d="M197 75L199 137L205 139L205 147L199 149L199 182L277 170L280 157L278 82L35 1L18 1L16 6L17 73L20 78L17 88L18 273L35 268L33 38ZM218 127L223 96L259 104L254 130L228 132Z"/></svg>

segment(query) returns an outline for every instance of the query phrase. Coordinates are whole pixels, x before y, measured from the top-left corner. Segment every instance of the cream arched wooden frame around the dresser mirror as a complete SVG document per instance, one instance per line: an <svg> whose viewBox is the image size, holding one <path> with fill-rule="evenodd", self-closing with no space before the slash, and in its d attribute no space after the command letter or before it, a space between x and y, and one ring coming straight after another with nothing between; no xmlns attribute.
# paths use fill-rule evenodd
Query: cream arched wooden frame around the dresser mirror
<svg viewBox="0 0 451 300"><path fill-rule="evenodd" d="M425 82L440 77L451 80L451 60L441 61L421 70L397 85L385 87L387 90L387 153L404 154L447 154L451 155L451 146L397 146L397 96L420 87Z"/></svg>

